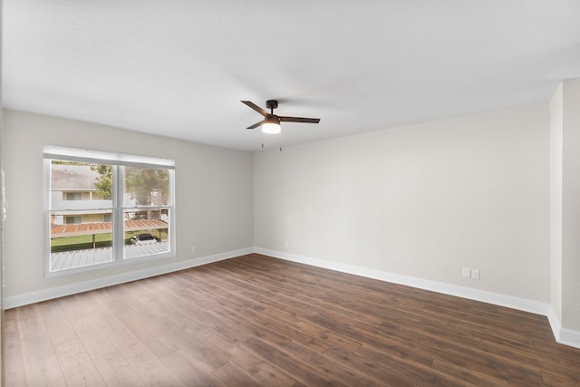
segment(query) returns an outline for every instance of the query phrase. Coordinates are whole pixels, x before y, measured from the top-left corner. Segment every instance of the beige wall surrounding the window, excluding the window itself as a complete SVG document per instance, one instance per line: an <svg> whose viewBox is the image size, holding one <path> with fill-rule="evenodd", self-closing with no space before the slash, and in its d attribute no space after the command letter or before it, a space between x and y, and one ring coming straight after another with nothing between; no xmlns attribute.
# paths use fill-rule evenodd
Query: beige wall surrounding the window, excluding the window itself
<svg viewBox="0 0 580 387"><path fill-rule="evenodd" d="M160 135L163 128L160 128ZM253 156L183 140L22 111L5 111L5 297L253 247ZM176 250L169 261L43 276L43 145L176 161ZM196 253L191 253L191 247Z"/></svg>

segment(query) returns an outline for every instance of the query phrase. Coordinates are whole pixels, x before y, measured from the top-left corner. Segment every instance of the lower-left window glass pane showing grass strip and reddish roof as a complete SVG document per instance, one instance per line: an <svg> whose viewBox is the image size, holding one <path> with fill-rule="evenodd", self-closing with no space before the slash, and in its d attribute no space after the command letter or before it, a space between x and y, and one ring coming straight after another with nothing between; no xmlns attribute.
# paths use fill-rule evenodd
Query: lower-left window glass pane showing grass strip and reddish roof
<svg viewBox="0 0 580 387"><path fill-rule="evenodd" d="M51 211L51 271L111 262L111 211L70 214ZM73 221L70 221L73 219Z"/></svg>

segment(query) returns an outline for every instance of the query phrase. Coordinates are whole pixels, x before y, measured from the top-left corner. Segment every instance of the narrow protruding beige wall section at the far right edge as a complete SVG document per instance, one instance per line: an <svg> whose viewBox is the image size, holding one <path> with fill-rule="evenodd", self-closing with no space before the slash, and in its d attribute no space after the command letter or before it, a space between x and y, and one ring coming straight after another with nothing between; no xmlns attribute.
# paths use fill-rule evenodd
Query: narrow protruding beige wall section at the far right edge
<svg viewBox="0 0 580 387"><path fill-rule="evenodd" d="M561 343L580 347L580 79L550 101L551 306Z"/></svg>

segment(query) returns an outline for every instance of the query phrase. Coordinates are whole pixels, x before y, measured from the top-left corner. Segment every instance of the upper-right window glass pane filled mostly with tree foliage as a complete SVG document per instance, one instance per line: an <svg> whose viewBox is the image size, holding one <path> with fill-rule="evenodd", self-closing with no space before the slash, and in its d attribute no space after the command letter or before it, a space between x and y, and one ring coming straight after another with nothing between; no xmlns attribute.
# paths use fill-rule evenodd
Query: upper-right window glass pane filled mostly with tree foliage
<svg viewBox="0 0 580 387"><path fill-rule="evenodd" d="M169 170L125 167L124 207L169 204Z"/></svg>

